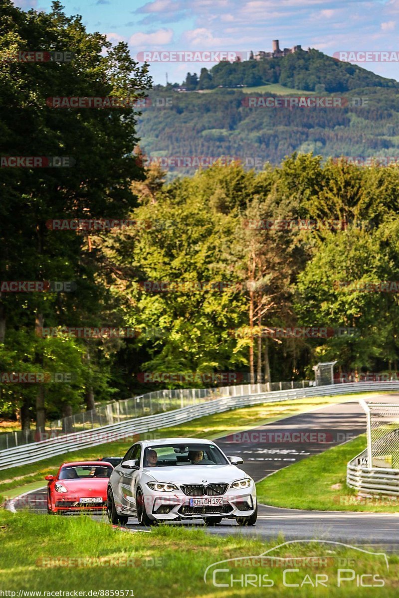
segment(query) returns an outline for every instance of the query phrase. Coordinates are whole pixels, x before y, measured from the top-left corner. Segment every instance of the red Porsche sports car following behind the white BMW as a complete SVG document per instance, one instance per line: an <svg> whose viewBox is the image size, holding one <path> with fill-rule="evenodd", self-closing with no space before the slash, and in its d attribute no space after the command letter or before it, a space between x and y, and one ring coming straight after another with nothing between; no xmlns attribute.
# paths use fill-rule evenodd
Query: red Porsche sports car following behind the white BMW
<svg viewBox="0 0 399 598"><path fill-rule="evenodd" d="M46 475L50 515L90 511L103 513L112 465L105 461L63 463L57 475Z"/></svg>

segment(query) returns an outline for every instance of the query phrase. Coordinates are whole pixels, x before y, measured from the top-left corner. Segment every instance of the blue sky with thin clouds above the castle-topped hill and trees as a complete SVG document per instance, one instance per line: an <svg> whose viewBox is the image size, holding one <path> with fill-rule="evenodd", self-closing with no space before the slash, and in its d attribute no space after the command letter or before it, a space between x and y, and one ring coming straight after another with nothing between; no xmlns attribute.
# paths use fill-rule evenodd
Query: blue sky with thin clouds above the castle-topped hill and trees
<svg viewBox="0 0 399 598"><path fill-rule="evenodd" d="M48 11L51 0L14 0L23 10ZM301 45L332 56L342 51L383 51L368 71L399 80L399 0L63 0L66 14L80 14L89 32L99 31L111 42L126 41L134 59L143 52L272 50ZM154 58L156 54L152 55ZM163 56L166 57L165 55ZM357 58L358 56L352 57ZM212 68L208 56L197 62L152 62L154 84L182 83L188 71ZM351 62L352 62L351 60ZM355 62L356 63L356 62Z"/></svg>

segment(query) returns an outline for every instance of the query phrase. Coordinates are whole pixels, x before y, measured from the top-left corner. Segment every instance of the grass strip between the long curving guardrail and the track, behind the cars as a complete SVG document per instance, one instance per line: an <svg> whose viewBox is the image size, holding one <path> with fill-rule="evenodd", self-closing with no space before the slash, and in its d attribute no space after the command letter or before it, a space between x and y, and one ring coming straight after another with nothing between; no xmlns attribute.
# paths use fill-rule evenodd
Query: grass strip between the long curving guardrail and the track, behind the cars
<svg viewBox="0 0 399 598"><path fill-rule="evenodd" d="M239 409L224 411L212 416L199 417L191 422L182 423L170 428L162 428L154 432L148 432L142 437L147 438L166 438L166 437L194 437L209 438L214 440L226 434L253 428L264 423L275 422L284 417L290 417L304 411L310 411L322 405L331 403L351 401L358 399L358 395L345 396L323 396L297 399L296 401L284 401L278 403L264 403L254 405L253 407L242 407ZM115 441L112 443L101 444L90 449L75 450L60 454L50 459L44 459L28 465L13 467L0 471L0 504L1 495L9 495L10 490L20 489L25 492L25 485L32 482L43 480L45 475L56 474L57 469L63 462L98 459L101 456L123 456L133 442L139 440L133 434L129 440Z"/></svg>

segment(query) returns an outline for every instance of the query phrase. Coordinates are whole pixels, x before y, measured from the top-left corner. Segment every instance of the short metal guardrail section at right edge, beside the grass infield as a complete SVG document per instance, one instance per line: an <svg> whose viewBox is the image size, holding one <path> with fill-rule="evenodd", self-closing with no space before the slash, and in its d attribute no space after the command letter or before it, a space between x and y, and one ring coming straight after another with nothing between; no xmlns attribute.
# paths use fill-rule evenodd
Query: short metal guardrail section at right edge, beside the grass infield
<svg viewBox="0 0 399 598"><path fill-rule="evenodd" d="M387 495L399 496L399 469L382 467L368 468L358 465L358 459L367 458L367 449L357 454L348 463L346 483L359 490L362 496Z"/></svg>

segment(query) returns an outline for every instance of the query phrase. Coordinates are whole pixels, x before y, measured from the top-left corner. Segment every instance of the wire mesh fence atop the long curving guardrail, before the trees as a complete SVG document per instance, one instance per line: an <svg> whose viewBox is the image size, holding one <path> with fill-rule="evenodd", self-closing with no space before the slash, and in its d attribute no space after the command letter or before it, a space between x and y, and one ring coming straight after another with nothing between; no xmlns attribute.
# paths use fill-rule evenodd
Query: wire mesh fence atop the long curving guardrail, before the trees
<svg viewBox="0 0 399 598"><path fill-rule="evenodd" d="M172 411L202 401L212 401L223 396L251 395L273 390L288 390L313 386L312 380L294 382L269 382L266 384L234 385L219 388L156 390L144 395L133 396L122 401L98 404L95 409L81 411L69 417L49 422L45 428L0 433L0 450L12 449L23 444L35 443L47 438L65 434L76 434L85 430L102 428L124 422L135 417L144 417Z"/></svg>

